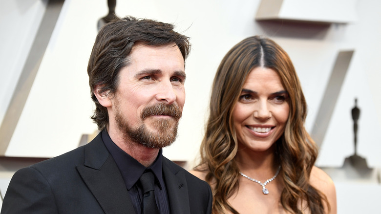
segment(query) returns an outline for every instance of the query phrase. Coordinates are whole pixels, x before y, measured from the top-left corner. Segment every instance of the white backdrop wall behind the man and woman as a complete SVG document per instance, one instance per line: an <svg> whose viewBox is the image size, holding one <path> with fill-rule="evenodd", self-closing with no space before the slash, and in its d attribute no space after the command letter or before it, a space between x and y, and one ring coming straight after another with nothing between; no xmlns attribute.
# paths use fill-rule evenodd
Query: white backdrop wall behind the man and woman
<svg viewBox="0 0 381 214"><path fill-rule="evenodd" d="M344 158L353 154L350 110L357 97L361 109L358 153L367 158L370 167L380 168L381 1L348 2L356 5L356 21L323 26L256 22L260 0L118 0L118 16L170 22L178 32L191 37L192 50L186 62L187 98L179 137L164 149L164 154L172 160L188 161L189 166L194 164L219 62L235 43L248 36L265 35L279 43L294 62L307 99L309 131L338 52L355 50L317 165L340 167ZM46 0L0 1L0 121L34 41L45 4ZM97 21L107 12L106 0L64 1L6 156L56 156L76 148L83 134L96 130L89 119L93 104L86 67L97 34Z"/></svg>

